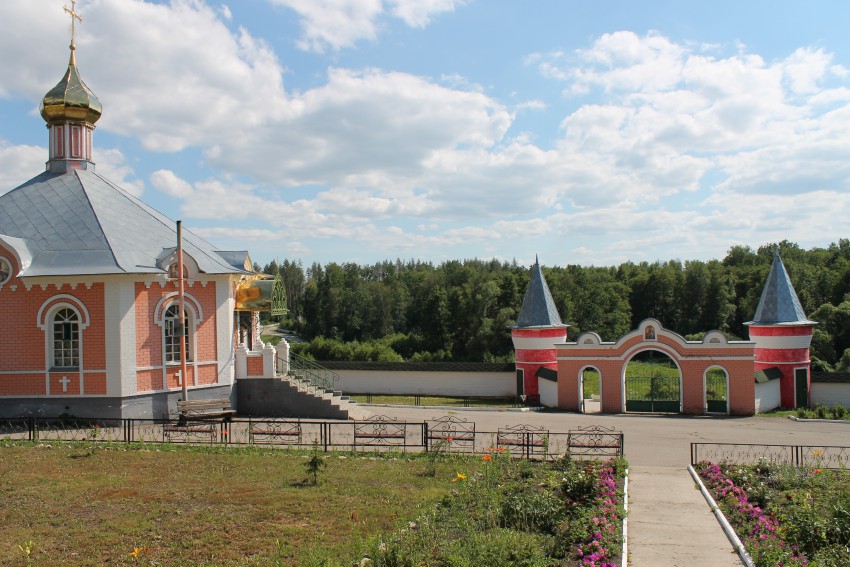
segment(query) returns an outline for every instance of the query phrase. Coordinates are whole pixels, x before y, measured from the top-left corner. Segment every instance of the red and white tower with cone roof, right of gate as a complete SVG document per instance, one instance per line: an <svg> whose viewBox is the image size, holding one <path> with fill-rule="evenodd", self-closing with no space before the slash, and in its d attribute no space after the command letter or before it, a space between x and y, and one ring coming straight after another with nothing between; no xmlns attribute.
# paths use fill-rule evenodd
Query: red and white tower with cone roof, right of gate
<svg viewBox="0 0 850 567"><path fill-rule="evenodd" d="M806 317L779 252L773 258L755 317L745 325L750 327L750 340L756 343L755 371L778 371L783 407L807 406L809 346L817 323Z"/></svg>

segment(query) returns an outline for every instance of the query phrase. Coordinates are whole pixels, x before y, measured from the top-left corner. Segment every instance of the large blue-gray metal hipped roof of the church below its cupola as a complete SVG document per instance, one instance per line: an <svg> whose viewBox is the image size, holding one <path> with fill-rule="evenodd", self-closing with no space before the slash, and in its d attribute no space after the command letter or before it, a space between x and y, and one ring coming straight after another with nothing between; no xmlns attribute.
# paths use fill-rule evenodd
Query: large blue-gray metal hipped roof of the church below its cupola
<svg viewBox="0 0 850 567"><path fill-rule="evenodd" d="M0 235L29 255L22 276L162 273L176 223L91 170L38 175L0 195ZM183 250L208 274L243 273L183 230Z"/></svg>

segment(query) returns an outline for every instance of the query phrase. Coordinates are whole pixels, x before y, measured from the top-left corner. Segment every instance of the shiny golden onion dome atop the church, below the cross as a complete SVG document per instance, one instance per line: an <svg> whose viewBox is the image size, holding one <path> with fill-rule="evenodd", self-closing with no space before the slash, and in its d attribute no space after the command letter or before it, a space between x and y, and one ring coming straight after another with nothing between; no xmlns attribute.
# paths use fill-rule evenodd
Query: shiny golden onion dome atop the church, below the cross
<svg viewBox="0 0 850 567"><path fill-rule="evenodd" d="M48 124L61 122L94 124L103 113L100 101L80 78L73 44L68 71L62 80L41 99L39 110L41 117Z"/></svg>

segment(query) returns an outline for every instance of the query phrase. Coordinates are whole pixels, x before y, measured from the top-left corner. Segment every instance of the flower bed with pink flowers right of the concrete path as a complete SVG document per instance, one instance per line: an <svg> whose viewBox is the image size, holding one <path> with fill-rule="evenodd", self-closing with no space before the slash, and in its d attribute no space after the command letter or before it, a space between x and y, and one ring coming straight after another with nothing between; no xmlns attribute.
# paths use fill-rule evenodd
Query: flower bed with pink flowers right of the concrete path
<svg viewBox="0 0 850 567"><path fill-rule="evenodd" d="M697 470L758 567L850 565L847 471L770 462Z"/></svg>

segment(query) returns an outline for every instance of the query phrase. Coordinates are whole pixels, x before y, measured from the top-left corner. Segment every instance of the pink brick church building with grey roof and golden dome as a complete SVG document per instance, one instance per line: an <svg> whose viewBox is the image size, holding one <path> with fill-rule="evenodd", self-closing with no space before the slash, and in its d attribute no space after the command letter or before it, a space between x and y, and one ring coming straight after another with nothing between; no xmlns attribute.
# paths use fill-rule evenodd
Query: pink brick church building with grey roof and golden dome
<svg viewBox="0 0 850 567"><path fill-rule="evenodd" d="M40 107L46 170L0 195L0 415L161 418L187 395L228 398L240 349L244 372L273 372L246 363L272 282L96 172L102 106L73 33Z"/></svg>

